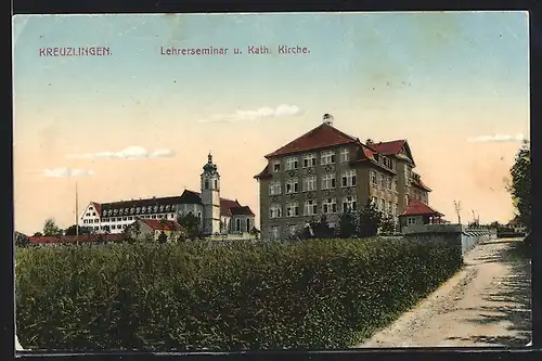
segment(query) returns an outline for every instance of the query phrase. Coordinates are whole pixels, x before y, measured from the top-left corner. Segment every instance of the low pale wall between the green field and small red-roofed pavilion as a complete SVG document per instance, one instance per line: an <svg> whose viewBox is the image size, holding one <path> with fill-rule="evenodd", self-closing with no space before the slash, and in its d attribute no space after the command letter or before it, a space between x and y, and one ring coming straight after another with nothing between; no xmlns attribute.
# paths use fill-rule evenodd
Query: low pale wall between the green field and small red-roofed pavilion
<svg viewBox="0 0 542 361"><path fill-rule="evenodd" d="M452 243L465 255L479 243L496 240L496 230L462 224L411 224L403 228L403 236L409 241Z"/></svg>

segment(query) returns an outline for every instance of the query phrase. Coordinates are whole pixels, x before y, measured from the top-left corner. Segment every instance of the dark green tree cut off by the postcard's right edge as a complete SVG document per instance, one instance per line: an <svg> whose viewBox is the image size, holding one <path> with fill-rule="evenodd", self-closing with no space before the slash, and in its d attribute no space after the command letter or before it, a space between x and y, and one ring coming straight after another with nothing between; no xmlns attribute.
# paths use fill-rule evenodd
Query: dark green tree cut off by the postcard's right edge
<svg viewBox="0 0 542 361"><path fill-rule="evenodd" d="M512 182L506 188L512 195L519 222L531 230L531 150L525 142L516 154L511 170Z"/></svg>

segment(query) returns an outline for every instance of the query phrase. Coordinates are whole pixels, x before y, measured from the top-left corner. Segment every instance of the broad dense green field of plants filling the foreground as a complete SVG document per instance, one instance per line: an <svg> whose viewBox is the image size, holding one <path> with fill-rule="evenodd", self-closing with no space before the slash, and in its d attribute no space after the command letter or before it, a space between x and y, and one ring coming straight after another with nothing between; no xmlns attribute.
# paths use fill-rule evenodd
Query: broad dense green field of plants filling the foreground
<svg viewBox="0 0 542 361"><path fill-rule="evenodd" d="M311 240L17 249L28 349L346 348L462 265L454 247Z"/></svg>

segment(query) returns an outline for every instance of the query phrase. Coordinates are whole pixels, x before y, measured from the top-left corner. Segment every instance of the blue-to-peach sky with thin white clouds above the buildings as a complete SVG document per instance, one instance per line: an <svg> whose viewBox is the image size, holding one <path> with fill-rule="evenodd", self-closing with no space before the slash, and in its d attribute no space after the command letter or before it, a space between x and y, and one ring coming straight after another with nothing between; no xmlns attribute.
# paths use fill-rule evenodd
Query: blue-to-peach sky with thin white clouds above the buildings
<svg viewBox="0 0 542 361"><path fill-rule="evenodd" d="M111 53L40 56L55 47ZM162 54L171 47L229 53ZM527 12L16 15L15 230L73 224L76 183L80 211L197 191L209 151L221 196L258 224L263 156L324 113L360 140L406 139L448 219L461 201L463 221L506 222L530 132Z"/></svg>

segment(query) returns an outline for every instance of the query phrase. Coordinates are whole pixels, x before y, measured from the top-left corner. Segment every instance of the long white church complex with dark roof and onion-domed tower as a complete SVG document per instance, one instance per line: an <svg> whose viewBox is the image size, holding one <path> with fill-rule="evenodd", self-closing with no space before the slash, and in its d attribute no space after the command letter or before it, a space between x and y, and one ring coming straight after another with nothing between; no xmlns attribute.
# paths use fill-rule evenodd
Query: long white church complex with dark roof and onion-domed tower
<svg viewBox="0 0 542 361"><path fill-rule="evenodd" d="M193 214L204 235L249 233L255 227L250 207L220 196L220 175L209 154L201 175L201 192L111 203L90 202L78 219L96 233L120 233L138 218L177 221Z"/></svg>

